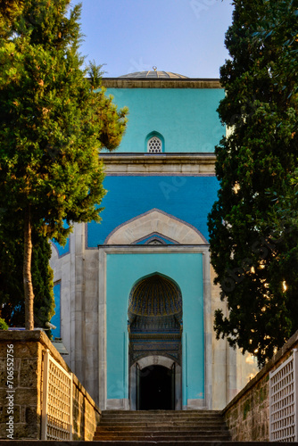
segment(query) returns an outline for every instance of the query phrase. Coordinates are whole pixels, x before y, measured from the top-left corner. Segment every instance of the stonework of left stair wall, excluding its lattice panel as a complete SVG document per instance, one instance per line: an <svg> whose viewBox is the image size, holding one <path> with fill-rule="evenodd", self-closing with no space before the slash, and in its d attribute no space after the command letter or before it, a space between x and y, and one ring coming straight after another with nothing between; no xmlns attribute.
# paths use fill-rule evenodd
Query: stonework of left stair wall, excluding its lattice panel
<svg viewBox="0 0 298 446"><path fill-rule="evenodd" d="M44 332L0 331L0 439L40 440L46 350L70 372ZM92 440L100 410L76 376L72 395L72 439Z"/></svg>

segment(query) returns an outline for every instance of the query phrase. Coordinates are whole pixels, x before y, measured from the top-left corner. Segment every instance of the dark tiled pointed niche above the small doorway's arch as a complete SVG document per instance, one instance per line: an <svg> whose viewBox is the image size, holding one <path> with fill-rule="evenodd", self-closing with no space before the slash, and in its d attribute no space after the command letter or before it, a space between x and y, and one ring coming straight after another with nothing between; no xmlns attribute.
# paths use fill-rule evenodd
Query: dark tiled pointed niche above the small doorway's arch
<svg viewBox="0 0 298 446"><path fill-rule="evenodd" d="M129 367L152 355L181 364L182 307L181 289L171 277L156 271L137 280L128 300Z"/></svg>

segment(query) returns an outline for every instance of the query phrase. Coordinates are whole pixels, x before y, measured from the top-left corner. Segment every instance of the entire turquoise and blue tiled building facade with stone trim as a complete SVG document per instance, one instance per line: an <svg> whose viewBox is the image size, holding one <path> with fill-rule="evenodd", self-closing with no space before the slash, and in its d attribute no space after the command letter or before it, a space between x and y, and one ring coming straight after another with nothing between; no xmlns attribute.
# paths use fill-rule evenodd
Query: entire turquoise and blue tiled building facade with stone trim
<svg viewBox="0 0 298 446"><path fill-rule="evenodd" d="M212 331L221 302L207 217L224 91L216 79L135 74L103 78L107 95L128 106L128 127L115 153L100 154L102 221L75 225L54 249L53 323L101 409L148 409L139 386L155 366L170 370L167 408L222 409L240 364Z"/></svg>

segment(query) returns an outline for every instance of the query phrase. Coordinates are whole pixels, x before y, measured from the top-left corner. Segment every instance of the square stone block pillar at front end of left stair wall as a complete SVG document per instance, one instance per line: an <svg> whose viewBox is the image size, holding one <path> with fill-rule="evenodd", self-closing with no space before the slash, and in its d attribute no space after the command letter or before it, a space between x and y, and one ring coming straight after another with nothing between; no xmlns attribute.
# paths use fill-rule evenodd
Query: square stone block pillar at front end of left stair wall
<svg viewBox="0 0 298 446"><path fill-rule="evenodd" d="M36 337L37 332L33 333ZM26 337L26 341L23 341L21 332L0 332L0 438L2 439L40 438L39 365L42 360L42 346L36 340ZM11 346L13 347L8 348ZM12 366L13 376L9 376L9 386L12 387L9 388L7 368Z"/></svg>

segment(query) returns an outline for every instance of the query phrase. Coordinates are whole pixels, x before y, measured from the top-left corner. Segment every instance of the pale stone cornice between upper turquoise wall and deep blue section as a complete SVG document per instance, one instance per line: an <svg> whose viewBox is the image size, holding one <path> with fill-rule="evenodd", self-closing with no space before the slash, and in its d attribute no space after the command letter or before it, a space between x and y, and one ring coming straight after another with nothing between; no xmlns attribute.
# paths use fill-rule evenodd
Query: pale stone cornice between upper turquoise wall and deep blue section
<svg viewBox="0 0 298 446"><path fill-rule="evenodd" d="M214 153L101 153L107 175L214 175Z"/></svg>

